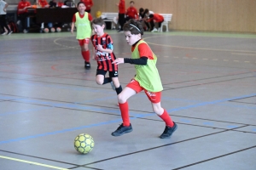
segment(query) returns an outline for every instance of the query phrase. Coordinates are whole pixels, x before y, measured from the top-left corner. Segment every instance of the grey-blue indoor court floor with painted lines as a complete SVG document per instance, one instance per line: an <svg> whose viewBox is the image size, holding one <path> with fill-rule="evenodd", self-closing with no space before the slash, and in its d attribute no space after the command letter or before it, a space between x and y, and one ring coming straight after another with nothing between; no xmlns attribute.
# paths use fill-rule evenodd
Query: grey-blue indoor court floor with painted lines
<svg viewBox="0 0 256 170"><path fill-rule="evenodd" d="M107 31L117 57L131 57L123 33ZM255 170L256 35L171 31L145 33L158 56L165 123L144 93L131 97L133 132L122 123L110 84L96 84L96 61L84 70L70 32L0 37L1 170ZM90 44L91 54L91 44ZM108 75L108 74L107 74ZM123 88L134 65L119 65ZM90 134L94 149L79 154L73 140Z"/></svg>

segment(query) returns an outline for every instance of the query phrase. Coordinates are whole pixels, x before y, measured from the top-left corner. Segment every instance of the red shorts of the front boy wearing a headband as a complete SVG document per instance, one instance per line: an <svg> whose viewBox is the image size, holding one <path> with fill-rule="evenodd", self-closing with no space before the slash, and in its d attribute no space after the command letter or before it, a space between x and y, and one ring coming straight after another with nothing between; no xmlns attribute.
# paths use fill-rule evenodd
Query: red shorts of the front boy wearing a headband
<svg viewBox="0 0 256 170"><path fill-rule="evenodd" d="M147 94L147 96L148 96L148 99L154 104L159 103L161 101L161 91L160 92L148 92L148 90L141 87L139 82L137 82L134 79L131 82L129 82L126 85L126 87L135 90L137 92L137 94L144 90L145 94Z"/></svg>

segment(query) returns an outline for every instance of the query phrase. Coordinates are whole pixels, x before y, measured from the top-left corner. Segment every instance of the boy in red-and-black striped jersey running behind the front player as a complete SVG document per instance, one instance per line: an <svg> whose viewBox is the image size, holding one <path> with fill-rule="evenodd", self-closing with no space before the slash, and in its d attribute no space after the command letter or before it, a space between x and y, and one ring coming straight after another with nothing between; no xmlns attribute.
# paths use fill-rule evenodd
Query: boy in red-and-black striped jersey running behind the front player
<svg viewBox="0 0 256 170"><path fill-rule="evenodd" d="M105 22L102 18L92 20L91 25L95 35L91 36L90 40L93 44L94 57L98 64L96 82L100 85L111 82L113 90L116 91L116 94L120 94L122 87L118 78L118 65L112 64L116 59L113 54L112 38L104 32ZM105 77L107 72L109 77Z"/></svg>

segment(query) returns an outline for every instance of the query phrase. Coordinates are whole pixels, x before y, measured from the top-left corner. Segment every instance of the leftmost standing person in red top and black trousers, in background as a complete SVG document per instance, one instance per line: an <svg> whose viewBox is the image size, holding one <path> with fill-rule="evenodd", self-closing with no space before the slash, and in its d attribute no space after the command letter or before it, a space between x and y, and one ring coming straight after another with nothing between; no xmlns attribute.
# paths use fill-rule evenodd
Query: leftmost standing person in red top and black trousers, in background
<svg viewBox="0 0 256 170"><path fill-rule="evenodd" d="M26 18L28 17L27 13L27 8L31 8L31 3L26 1L26 0L20 0L20 3L18 3L18 8L17 8L17 15L18 15L18 22L17 24L20 25L23 29L23 32L27 32L27 26L26 26Z"/></svg>

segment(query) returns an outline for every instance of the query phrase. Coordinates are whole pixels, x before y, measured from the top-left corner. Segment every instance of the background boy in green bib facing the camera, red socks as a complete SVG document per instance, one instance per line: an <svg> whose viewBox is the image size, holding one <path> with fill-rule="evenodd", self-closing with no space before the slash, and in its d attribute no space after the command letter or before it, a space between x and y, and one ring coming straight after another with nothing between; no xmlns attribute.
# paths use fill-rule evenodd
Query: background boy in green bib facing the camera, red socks
<svg viewBox="0 0 256 170"><path fill-rule="evenodd" d="M81 54L84 58L84 68L90 69L90 51L89 42L91 35L90 21L92 16L85 12L85 5L82 2L78 3L78 10L76 14L73 14L73 20L71 25L71 33L73 34L74 26L77 28L77 39L81 47Z"/></svg>

